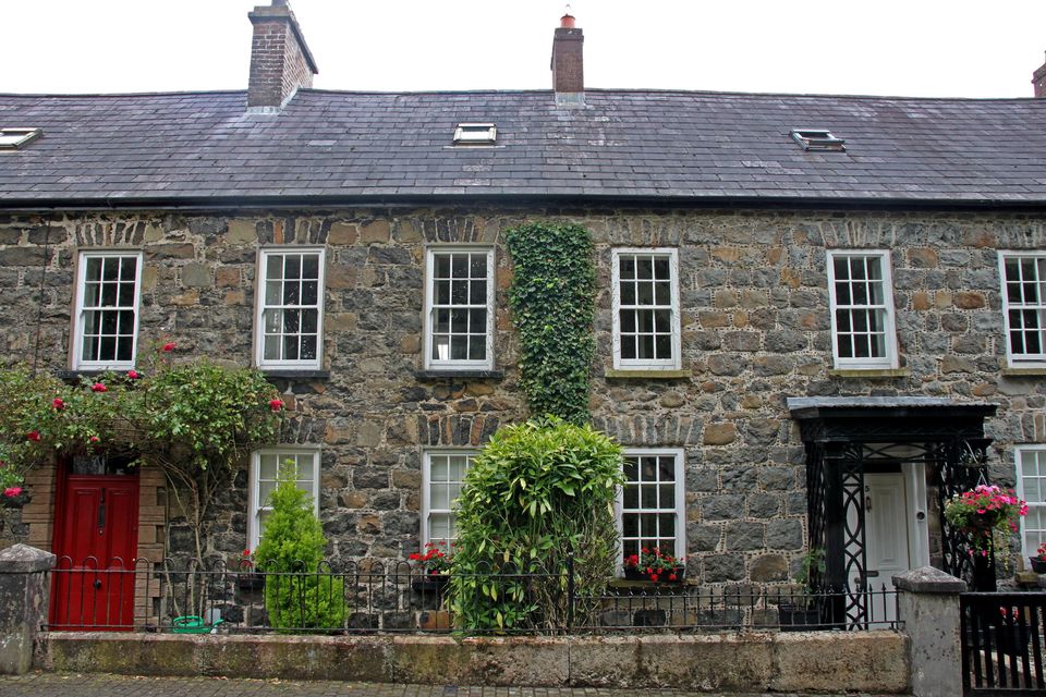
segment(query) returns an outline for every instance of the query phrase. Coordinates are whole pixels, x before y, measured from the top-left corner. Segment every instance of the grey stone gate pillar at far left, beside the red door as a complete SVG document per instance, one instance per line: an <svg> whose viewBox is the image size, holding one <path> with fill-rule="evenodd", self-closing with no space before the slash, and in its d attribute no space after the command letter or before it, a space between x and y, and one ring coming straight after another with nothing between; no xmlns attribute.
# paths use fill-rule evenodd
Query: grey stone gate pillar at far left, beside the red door
<svg viewBox="0 0 1046 697"><path fill-rule="evenodd" d="M21 675L33 667L53 566L53 554L26 545L0 551L0 673Z"/></svg>

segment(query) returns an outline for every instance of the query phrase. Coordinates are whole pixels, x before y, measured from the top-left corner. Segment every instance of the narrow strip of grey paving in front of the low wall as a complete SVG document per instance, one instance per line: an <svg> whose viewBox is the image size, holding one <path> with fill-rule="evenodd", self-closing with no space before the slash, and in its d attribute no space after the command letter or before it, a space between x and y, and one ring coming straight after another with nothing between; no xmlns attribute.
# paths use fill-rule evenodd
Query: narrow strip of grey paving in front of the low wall
<svg viewBox="0 0 1046 697"><path fill-rule="evenodd" d="M677 689L607 689L595 687L466 687L460 685L397 685L223 677L144 677L92 673L28 673L0 676L0 695L32 697L802 697L774 693L754 695L690 693ZM830 697L819 695L818 697ZM854 695L847 697L886 697Z"/></svg>

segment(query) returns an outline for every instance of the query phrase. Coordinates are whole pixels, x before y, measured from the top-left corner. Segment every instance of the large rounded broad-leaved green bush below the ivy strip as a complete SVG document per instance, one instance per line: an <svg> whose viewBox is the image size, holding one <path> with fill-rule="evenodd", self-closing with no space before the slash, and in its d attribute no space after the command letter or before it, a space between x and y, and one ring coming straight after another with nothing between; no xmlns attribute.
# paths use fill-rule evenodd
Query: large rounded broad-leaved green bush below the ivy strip
<svg viewBox="0 0 1046 697"><path fill-rule="evenodd" d="M450 607L465 631L565 626L568 558L575 595L601 594L618 540L621 448L559 418L507 426L465 476ZM547 574L526 577L527 574ZM594 607L575 607L584 620Z"/></svg>

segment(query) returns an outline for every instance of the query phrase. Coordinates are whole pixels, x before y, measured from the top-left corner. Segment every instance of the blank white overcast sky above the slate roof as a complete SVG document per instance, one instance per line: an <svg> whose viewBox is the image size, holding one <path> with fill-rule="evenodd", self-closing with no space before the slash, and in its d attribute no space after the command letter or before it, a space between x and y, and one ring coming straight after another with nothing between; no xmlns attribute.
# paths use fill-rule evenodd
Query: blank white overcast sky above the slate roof
<svg viewBox="0 0 1046 697"><path fill-rule="evenodd" d="M546 89L561 0L290 0L314 87ZM2 93L243 89L268 0L0 0ZM586 87L1031 97L1046 0L574 0Z"/></svg>

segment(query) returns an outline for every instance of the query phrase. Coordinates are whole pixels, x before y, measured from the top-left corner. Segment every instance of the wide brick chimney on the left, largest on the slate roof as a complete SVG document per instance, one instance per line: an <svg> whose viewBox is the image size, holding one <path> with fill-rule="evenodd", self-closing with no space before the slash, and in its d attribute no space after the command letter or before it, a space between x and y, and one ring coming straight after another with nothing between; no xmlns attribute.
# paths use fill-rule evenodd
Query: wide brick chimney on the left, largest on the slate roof
<svg viewBox="0 0 1046 697"><path fill-rule="evenodd" d="M316 61L287 0L272 0L248 13L251 41L250 111L278 111L299 87L312 87Z"/></svg>

